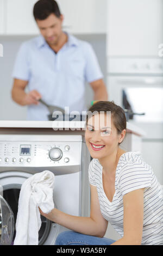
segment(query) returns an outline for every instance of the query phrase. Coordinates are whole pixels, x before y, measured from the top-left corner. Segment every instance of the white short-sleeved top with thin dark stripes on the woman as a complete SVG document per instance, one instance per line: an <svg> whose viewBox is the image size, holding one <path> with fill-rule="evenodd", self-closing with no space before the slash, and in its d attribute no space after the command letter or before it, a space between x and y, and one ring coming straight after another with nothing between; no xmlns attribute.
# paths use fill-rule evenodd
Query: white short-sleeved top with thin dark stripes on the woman
<svg viewBox="0 0 163 256"><path fill-rule="evenodd" d="M143 161L139 151L120 156L116 168L115 194L112 202L106 197L102 181L103 167L98 159L89 165L89 182L97 187L100 209L105 220L123 236L123 196L145 188L142 245L163 244L163 194L152 167Z"/></svg>

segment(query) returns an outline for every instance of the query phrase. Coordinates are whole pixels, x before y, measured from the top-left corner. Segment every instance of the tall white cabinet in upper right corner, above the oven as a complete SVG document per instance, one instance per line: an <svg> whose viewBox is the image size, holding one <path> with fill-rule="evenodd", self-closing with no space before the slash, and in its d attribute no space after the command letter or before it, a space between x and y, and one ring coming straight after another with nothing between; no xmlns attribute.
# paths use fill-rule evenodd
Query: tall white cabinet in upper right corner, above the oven
<svg viewBox="0 0 163 256"><path fill-rule="evenodd" d="M108 56L158 56L162 0L108 0Z"/></svg>

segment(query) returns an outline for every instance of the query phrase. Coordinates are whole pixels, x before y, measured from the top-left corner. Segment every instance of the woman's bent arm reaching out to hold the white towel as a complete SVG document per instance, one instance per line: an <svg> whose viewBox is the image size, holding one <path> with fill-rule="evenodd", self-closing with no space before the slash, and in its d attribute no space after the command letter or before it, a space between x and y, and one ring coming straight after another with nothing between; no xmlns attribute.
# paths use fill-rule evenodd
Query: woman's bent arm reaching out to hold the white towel
<svg viewBox="0 0 163 256"><path fill-rule="evenodd" d="M108 222L103 218L99 208L97 188L91 186L91 214L90 217L79 217L65 214L64 212L53 209L49 214L41 215L55 223L58 223L68 229L85 235L103 237L108 226Z"/></svg>

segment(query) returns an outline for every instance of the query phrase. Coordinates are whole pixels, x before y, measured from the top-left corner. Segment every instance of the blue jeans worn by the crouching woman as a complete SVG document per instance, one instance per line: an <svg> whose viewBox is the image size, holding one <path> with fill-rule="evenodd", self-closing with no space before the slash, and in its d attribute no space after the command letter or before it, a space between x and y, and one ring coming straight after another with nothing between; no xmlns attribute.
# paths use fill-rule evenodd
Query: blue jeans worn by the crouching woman
<svg viewBox="0 0 163 256"><path fill-rule="evenodd" d="M74 231L63 231L55 240L55 245L110 245L115 240L105 237L83 235Z"/></svg>

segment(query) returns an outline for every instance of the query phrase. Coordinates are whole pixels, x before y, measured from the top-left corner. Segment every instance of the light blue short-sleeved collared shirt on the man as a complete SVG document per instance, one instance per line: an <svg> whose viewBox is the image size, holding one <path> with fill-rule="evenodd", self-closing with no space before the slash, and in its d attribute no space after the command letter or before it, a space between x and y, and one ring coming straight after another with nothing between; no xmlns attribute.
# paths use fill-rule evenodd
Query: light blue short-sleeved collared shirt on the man
<svg viewBox="0 0 163 256"><path fill-rule="evenodd" d="M68 35L68 41L56 54L42 35L30 39L17 53L12 77L28 81L28 90L37 90L49 105L71 111L86 110L85 82L103 78L92 46ZM48 120L46 106L29 105L28 120Z"/></svg>

